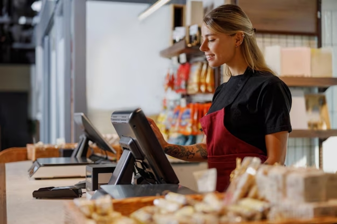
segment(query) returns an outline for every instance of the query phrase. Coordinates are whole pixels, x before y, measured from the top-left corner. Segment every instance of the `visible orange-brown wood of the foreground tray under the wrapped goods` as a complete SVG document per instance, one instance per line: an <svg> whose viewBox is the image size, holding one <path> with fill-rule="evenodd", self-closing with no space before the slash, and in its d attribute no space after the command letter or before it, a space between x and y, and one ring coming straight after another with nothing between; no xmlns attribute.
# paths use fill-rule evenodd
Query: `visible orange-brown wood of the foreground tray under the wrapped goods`
<svg viewBox="0 0 337 224"><path fill-rule="evenodd" d="M219 198L223 198L223 193L217 193ZM145 206L153 205L153 200L163 196L151 197L133 197L126 199L113 199L114 211L120 212L124 216L129 216L131 213L141 209ZM188 197L195 200L202 200L202 194L188 195ZM64 204L65 224L85 224L88 222L81 211L75 206L72 201L67 201ZM337 224L337 217L321 217L310 220L282 220L282 221L253 221L240 222L240 224Z"/></svg>

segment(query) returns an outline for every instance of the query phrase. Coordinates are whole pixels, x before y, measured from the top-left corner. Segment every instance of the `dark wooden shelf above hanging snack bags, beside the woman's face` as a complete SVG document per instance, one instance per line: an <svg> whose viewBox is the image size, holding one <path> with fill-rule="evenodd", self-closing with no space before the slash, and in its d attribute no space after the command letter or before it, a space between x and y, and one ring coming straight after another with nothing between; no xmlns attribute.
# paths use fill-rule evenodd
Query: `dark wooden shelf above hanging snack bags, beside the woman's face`
<svg viewBox="0 0 337 224"><path fill-rule="evenodd" d="M182 54L182 53L186 53L187 55L193 55L197 57L205 55L204 52L199 50L198 46L188 47L186 45L186 41L182 40L160 51L160 57L172 58L174 56L179 56L179 54Z"/></svg>

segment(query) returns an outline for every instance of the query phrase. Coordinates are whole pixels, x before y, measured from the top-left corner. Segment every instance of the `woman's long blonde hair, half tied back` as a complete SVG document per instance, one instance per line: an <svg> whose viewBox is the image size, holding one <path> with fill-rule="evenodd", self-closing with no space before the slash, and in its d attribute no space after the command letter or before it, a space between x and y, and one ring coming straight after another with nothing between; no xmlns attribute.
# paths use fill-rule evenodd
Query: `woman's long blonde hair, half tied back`
<svg viewBox="0 0 337 224"><path fill-rule="evenodd" d="M238 32L245 34L241 44L243 57L248 66L256 71L265 71L275 74L266 64L263 53L256 43L255 29L246 13L237 5L221 5L204 17L204 24L217 34L235 35ZM231 75L226 66L226 74Z"/></svg>

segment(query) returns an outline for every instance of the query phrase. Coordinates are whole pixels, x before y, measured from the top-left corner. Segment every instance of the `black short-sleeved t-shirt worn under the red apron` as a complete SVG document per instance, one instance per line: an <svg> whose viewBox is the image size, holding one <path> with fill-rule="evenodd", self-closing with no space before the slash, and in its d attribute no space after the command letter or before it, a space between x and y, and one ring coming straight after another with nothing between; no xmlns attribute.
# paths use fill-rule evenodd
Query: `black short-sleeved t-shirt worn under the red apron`
<svg viewBox="0 0 337 224"><path fill-rule="evenodd" d="M292 131L291 105L292 96L283 81L269 72L247 68L215 90L208 113L225 108L227 130L267 153L265 135Z"/></svg>

